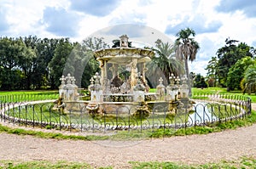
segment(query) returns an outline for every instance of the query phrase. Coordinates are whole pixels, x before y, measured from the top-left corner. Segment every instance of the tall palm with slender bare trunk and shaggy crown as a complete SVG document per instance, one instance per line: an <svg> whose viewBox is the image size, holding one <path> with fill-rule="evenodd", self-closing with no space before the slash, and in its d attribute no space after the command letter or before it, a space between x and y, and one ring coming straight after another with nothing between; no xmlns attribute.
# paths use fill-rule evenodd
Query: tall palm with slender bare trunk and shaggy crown
<svg viewBox="0 0 256 169"><path fill-rule="evenodd" d="M177 39L175 41L175 55L176 58L184 62L186 76L188 77L189 96L191 96L191 84L189 80L189 65L188 61L194 61L195 55L199 50L199 43L195 42L195 31L186 28L177 32Z"/></svg>

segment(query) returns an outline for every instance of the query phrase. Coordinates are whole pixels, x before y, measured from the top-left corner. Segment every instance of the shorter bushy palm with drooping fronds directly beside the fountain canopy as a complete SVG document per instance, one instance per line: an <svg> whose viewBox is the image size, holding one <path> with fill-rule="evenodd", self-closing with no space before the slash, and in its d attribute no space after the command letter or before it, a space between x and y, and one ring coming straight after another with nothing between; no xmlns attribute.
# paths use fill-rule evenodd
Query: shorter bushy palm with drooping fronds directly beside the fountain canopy
<svg viewBox="0 0 256 169"><path fill-rule="evenodd" d="M183 70L183 66L175 59L174 48L170 42L162 42L158 39L153 48L155 56L151 62L148 63L148 74L152 79L154 86L158 84L160 77L164 82L169 83L169 76L173 73L178 75ZM158 78L158 79L156 79Z"/></svg>

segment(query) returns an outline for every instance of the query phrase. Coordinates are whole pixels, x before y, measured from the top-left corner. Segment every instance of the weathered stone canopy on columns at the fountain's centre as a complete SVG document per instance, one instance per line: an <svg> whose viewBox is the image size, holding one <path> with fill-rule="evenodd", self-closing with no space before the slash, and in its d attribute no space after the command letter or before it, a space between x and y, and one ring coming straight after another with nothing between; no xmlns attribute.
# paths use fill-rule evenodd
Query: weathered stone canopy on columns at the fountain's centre
<svg viewBox="0 0 256 169"><path fill-rule="evenodd" d="M143 84L148 92L145 77L146 63L154 56L151 49L131 47L129 37L123 35L113 41L112 48L104 48L95 52L100 62L102 93L133 93L137 82ZM120 77L125 74L125 77Z"/></svg>

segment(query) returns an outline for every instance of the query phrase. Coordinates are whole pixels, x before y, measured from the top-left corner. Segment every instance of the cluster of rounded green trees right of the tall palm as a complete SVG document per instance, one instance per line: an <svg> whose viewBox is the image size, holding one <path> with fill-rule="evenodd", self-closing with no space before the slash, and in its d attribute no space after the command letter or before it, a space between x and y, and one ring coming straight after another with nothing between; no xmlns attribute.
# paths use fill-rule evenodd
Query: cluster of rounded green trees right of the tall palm
<svg viewBox="0 0 256 169"><path fill-rule="evenodd" d="M244 42L237 43L227 38L224 47L218 49L217 56L208 62L208 85L252 93L256 91L256 76L253 76L252 70L256 62L255 49ZM251 70L247 70L249 68Z"/></svg>

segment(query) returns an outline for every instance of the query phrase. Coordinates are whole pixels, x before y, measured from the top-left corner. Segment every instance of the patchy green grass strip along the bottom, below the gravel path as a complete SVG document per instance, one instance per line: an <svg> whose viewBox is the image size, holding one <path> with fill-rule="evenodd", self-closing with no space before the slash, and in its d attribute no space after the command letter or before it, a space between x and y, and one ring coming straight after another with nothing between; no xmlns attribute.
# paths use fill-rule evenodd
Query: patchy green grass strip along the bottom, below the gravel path
<svg viewBox="0 0 256 169"><path fill-rule="evenodd" d="M249 169L256 168L256 159L253 157L242 156L236 161L219 161L217 163L206 164L185 164L183 162L172 161L130 161L132 169ZM111 169L118 166L101 166L97 169ZM8 169L73 169L73 168L96 168L84 162L68 161L0 161L0 168Z"/></svg>

